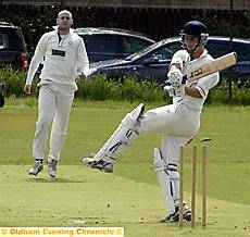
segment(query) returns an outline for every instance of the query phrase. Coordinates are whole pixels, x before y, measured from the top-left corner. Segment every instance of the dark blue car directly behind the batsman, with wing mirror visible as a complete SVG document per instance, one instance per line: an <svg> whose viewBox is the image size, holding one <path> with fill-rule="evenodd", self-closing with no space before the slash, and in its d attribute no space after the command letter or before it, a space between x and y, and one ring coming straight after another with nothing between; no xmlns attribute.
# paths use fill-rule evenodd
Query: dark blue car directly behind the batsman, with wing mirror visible
<svg viewBox="0 0 250 237"><path fill-rule="evenodd" d="M236 51L238 63L232 67L233 75L239 79L250 78L250 41L234 38L232 48L227 37L209 37L207 48L214 58ZM182 49L180 37L163 39L149 46L124 60L112 60L90 64L92 74L107 74L109 78L126 78L135 76L138 79L154 78L164 82L171 59ZM222 76L228 76L228 70Z"/></svg>

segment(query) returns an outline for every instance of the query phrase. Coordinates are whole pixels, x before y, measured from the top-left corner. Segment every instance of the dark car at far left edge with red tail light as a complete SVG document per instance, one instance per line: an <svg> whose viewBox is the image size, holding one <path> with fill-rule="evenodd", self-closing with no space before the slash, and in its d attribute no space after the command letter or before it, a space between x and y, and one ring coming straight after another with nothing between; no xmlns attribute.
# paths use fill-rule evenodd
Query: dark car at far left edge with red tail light
<svg viewBox="0 0 250 237"><path fill-rule="evenodd" d="M28 53L22 29L0 22L0 67L5 65L27 71Z"/></svg>

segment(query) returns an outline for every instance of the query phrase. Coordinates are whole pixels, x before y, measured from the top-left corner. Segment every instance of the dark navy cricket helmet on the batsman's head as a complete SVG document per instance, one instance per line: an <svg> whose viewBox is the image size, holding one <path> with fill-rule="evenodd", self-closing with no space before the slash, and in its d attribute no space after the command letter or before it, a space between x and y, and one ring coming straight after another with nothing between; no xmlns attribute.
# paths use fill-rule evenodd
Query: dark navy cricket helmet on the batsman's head
<svg viewBox="0 0 250 237"><path fill-rule="evenodd" d="M189 35L189 36L196 36L198 37L198 42L199 45L205 46L209 37L209 33L207 30L207 27L204 26L203 23L199 21L191 21L188 22L187 24L184 25L182 32L182 41L184 41L184 36Z"/></svg>

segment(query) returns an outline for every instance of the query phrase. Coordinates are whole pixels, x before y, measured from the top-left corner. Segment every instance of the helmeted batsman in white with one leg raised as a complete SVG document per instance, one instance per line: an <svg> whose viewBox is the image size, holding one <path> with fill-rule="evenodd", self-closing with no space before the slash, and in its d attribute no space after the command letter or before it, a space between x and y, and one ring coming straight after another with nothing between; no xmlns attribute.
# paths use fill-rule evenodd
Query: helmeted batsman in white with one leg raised
<svg viewBox="0 0 250 237"><path fill-rule="evenodd" d="M209 90L220 79L218 73L183 84L183 75L214 59L204 49L208 41L205 26L198 21L188 22L180 32L183 50L172 59L166 87L173 104L145 111L141 103L123 120L114 134L93 158L84 158L85 165L112 172L117 154L132 145L141 133L162 133L161 148L154 148L154 169L163 191L167 215L160 222L177 222L179 219L179 174L177 171L180 147L185 146L200 128L200 115ZM184 219L190 221L187 203Z"/></svg>

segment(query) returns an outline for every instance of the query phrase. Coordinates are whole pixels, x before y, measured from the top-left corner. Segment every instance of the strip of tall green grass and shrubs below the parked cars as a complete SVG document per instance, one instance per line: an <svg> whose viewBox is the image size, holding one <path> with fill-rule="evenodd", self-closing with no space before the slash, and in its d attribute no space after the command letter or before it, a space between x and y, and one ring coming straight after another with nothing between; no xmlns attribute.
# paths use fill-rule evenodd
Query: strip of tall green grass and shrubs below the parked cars
<svg viewBox="0 0 250 237"><path fill-rule="evenodd" d="M11 67L0 70L0 83L4 82L5 97L23 97L23 87L27 74L15 71ZM39 82L35 77L33 83L33 97L37 97L38 87L35 85ZM171 102L167 91L161 89L154 80L138 82L133 77L126 79L111 80L104 75L96 75L87 80L77 80L78 90L75 97L83 100L117 100L117 101L162 101ZM229 99L228 83L222 79L218 86L211 89L207 103L210 104L241 104L250 105L250 79L246 82L233 82L232 98Z"/></svg>

